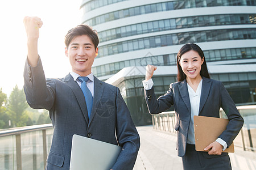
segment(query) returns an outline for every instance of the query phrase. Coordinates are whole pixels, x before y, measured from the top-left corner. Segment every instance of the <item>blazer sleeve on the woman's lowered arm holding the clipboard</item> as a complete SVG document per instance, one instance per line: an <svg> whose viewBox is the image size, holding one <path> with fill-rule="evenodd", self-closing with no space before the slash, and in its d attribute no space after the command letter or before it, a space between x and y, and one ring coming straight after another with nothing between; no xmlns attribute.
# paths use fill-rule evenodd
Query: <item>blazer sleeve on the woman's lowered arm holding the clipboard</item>
<svg viewBox="0 0 256 170"><path fill-rule="evenodd" d="M221 108L226 113L226 116L228 116L229 124L226 126L226 130L224 130L219 138L223 139L229 147L243 126L243 118L238 112L236 104L234 104L234 101L221 82L220 98Z"/></svg>

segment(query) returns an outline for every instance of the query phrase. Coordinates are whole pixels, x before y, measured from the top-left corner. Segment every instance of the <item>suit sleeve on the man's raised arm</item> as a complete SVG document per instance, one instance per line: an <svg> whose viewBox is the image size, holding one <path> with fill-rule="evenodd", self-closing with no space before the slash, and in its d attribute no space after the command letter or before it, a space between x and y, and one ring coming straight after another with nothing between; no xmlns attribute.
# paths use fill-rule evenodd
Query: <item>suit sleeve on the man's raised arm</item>
<svg viewBox="0 0 256 170"><path fill-rule="evenodd" d="M51 109L55 96L50 86L53 82L46 82L40 57L36 67L31 67L26 60L23 76L28 105L34 109Z"/></svg>

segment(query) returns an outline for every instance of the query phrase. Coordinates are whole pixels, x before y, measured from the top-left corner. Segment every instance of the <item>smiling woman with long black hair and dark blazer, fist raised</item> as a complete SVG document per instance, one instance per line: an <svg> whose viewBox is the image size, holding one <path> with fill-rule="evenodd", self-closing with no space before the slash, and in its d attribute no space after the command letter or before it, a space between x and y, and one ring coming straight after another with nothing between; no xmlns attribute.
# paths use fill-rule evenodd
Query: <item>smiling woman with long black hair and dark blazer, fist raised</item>
<svg viewBox="0 0 256 170"><path fill-rule="evenodd" d="M223 84L210 79L204 53L196 44L185 44L177 53L177 82L156 99L152 75L156 66L147 65L143 80L148 111L158 114L174 105L176 115L177 152L183 168L232 169L228 153L222 152L231 145L243 126L243 118ZM206 152L195 150L193 116L220 117L222 108L229 119L226 130L216 141L205 147Z"/></svg>

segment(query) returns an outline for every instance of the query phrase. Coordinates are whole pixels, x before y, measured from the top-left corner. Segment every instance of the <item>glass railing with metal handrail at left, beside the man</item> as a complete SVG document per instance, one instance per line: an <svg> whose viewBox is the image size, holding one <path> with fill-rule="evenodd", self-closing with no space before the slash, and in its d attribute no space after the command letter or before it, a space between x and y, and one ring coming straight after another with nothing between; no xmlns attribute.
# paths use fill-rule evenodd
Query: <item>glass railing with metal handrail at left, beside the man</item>
<svg viewBox="0 0 256 170"><path fill-rule="evenodd" d="M0 169L44 169L52 134L52 124L1 130Z"/></svg>

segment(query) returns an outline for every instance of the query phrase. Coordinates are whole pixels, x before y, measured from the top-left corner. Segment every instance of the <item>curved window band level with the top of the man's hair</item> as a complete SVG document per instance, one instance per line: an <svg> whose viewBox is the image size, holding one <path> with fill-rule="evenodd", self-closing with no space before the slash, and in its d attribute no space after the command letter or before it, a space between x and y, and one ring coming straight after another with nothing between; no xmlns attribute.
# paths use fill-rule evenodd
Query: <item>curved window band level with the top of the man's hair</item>
<svg viewBox="0 0 256 170"><path fill-rule="evenodd" d="M221 20L220 20L220 16L223 16ZM237 16L238 18L243 16L243 18L246 18L246 19L241 22L237 22L237 20L234 19L235 16ZM256 24L256 21L250 22L250 17L254 17L256 19L256 15L254 14L226 14L226 15L191 16L191 17L185 17L185 18L164 19L164 20L157 20L157 21L151 21L146 23L139 23L139 24L113 28L106 31L98 32L98 35L100 38L100 42L104 42L104 41L119 39L121 37L141 35L142 33L166 31L170 29L205 27L207 25L224 25L224 24L225 25ZM218 22L216 22L216 20L218 20ZM220 37L225 36L225 40L227 40L229 36L232 37L233 35L232 35L232 32L225 32L219 36ZM238 37L239 36L237 35L237 38ZM242 37L250 38L249 36L247 36L246 33L243 33ZM204 37L199 36L198 38L206 39L206 36L205 35Z"/></svg>

